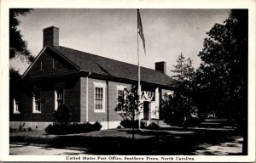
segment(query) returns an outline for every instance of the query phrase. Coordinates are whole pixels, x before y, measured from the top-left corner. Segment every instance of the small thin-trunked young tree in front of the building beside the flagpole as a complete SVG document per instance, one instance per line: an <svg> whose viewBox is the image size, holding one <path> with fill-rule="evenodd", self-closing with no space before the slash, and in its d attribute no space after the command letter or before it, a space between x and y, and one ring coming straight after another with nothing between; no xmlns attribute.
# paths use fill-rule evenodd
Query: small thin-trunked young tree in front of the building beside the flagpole
<svg viewBox="0 0 256 163"><path fill-rule="evenodd" d="M124 96L119 97L119 103L114 109L124 120L132 121L132 138L134 138L134 125L137 115L141 113L141 104L137 93L137 87L131 86L131 90L124 89Z"/></svg>

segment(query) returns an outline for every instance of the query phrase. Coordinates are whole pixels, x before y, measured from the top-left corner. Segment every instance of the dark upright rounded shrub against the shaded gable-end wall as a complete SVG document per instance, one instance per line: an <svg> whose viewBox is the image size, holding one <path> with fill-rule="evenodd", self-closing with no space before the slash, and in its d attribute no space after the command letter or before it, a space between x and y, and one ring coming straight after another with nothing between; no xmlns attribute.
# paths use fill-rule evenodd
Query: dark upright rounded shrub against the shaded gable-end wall
<svg viewBox="0 0 256 163"><path fill-rule="evenodd" d="M59 104L58 109L55 110L54 114L54 123L55 124L65 124L69 123L69 109L67 108L66 104Z"/></svg>

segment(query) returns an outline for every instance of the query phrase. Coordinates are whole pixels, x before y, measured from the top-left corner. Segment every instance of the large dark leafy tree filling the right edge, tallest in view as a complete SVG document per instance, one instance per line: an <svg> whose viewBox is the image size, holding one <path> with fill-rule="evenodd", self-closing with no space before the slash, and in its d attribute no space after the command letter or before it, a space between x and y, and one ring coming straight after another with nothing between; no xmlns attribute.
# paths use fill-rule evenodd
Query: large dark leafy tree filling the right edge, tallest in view
<svg viewBox="0 0 256 163"><path fill-rule="evenodd" d="M201 105L218 117L237 119L247 154L248 11L231 10L224 24L213 25L207 35L196 76L198 89L207 97Z"/></svg>

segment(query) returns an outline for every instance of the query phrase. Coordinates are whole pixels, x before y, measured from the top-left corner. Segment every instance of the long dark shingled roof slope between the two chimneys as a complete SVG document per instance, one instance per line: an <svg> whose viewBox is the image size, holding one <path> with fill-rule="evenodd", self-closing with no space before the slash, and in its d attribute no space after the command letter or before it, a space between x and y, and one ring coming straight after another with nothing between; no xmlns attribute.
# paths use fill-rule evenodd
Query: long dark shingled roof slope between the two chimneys
<svg viewBox="0 0 256 163"><path fill-rule="evenodd" d="M90 71L102 76L112 76L137 81L137 65L127 64L114 59L108 59L91 53L84 53L72 48L51 47L67 59L78 65L81 70ZM157 70L141 67L141 81L162 86L170 86L173 82L170 76Z"/></svg>

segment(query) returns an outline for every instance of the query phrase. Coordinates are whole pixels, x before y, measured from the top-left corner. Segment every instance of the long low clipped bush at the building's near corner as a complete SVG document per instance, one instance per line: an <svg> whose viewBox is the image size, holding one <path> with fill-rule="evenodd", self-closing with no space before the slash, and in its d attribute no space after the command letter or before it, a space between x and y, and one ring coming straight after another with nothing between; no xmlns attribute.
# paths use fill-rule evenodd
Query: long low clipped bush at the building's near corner
<svg viewBox="0 0 256 163"><path fill-rule="evenodd" d="M70 133L82 133L82 132L92 132L101 130L102 125L100 122L96 121L94 124L86 123L73 123L73 124L54 124L47 126L45 132L49 134L61 135Z"/></svg>

